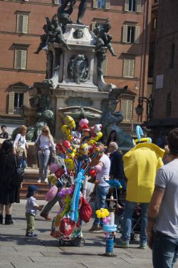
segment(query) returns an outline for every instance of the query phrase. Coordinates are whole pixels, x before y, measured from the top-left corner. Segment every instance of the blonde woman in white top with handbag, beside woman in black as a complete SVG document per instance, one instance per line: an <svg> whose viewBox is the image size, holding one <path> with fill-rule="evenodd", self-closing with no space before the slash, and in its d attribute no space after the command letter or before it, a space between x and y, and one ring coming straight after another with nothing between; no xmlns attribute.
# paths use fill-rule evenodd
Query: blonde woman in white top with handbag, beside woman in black
<svg viewBox="0 0 178 268"><path fill-rule="evenodd" d="M26 149L28 149L28 144L26 143L26 130L26 126L20 126L19 134L16 135L16 139L13 144L13 153L16 154L18 166L22 166L23 169L26 168Z"/></svg>

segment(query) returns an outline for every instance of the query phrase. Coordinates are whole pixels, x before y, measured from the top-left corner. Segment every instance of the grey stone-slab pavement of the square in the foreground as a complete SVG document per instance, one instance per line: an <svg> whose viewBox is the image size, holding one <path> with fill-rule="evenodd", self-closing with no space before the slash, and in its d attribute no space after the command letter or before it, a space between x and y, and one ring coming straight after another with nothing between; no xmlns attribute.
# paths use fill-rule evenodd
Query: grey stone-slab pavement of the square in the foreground
<svg viewBox="0 0 178 268"><path fill-rule="evenodd" d="M0 268L152 267L150 249L139 249L138 241L131 244L129 249L114 249L117 257L98 256L105 253L105 234L87 231L93 219L83 226L84 247L59 247L58 240L50 236L51 221L44 220L39 213L35 221L38 239L25 237L25 202L22 200L21 204L13 205L14 225L0 225ZM51 216L54 217L57 211L56 205Z"/></svg>

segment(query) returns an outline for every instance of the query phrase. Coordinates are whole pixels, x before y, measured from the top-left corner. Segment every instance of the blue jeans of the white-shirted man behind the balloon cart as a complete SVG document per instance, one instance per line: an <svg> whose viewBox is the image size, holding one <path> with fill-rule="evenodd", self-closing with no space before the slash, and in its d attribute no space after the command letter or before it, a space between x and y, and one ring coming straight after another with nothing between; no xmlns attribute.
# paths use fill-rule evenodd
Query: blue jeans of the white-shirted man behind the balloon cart
<svg viewBox="0 0 178 268"><path fill-rule="evenodd" d="M96 188L96 206L95 209L105 208L105 199L109 192L110 186L98 186ZM95 225L103 225L102 218L98 219L98 217L95 215L95 220L93 222Z"/></svg>

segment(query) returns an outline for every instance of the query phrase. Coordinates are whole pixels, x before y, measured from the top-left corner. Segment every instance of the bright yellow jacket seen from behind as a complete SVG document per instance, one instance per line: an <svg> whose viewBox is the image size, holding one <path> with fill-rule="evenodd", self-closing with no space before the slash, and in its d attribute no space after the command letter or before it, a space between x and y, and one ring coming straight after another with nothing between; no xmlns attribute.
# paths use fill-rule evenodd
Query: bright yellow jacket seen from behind
<svg viewBox="0 0 178 268"><path fill-rule="evenodd" d="M155 187L156 172L163 166L164 150L152 143L140 143L123 157L127 177L126 200L149 203Z"/></svg>

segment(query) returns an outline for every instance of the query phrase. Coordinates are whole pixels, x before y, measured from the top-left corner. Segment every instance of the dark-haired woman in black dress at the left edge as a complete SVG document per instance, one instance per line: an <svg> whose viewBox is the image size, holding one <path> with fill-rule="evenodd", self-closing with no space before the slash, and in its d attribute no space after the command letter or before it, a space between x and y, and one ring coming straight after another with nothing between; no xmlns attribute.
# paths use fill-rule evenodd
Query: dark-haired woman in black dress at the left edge
<svg viewBox="0 0 178 268"><path fill-rule="evenodd" d="M1 146L0 159L0 224L3 224L4 206L6 212L5 224L13 224L11 219L12 204L20 202L20 186L11 184L16 170L16 160L9 139L6 139Z"/></svg>

